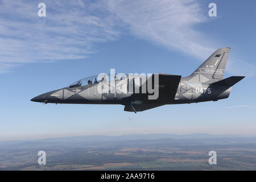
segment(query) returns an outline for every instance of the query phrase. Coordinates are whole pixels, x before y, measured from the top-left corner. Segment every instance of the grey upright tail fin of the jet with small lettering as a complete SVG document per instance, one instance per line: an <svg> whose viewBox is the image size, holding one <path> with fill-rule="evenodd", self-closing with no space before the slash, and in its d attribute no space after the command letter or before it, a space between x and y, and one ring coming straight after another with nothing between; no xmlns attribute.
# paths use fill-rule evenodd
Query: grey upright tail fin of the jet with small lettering
<svg viewBox="0 0 256 182"><path fill-rule="evenodd" d="M215 51L187 79L191 82L205 82L207 84L221 80L224 76L230 49L230 47L226 47Z"/></svg>

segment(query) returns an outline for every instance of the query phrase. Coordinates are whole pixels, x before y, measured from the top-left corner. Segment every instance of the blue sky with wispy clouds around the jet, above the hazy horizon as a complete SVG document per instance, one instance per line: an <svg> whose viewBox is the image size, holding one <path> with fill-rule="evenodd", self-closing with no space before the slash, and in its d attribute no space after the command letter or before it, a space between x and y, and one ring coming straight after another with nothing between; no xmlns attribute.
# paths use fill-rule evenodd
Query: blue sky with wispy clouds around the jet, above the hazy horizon
<svg viewBox="0 0 256 182"><path fill-rule="evenodd" d="M46 17L38 17L38 3ZM208 5L217 5L217 17ZM0 140L142 133L256 135L256 1L0 1ZM30 99L109 73L188 76L232 47L224 77L246 76L218 102L141 113L121 105Z"/></svg>

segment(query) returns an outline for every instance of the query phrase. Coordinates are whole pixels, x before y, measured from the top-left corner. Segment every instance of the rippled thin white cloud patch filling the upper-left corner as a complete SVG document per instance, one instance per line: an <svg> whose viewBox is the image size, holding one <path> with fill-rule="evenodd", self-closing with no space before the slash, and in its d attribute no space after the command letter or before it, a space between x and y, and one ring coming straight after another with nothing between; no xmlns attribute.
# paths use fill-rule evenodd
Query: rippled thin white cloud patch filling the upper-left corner
<svg viewBox="0 0 256 182"><path fill-rule="evenodd" d="M44 1L46 17L39 17L37 1L1 1L0 71L13 65L83 59L97 52L95 43L117 39L114 18L96 3Z"/></svg>

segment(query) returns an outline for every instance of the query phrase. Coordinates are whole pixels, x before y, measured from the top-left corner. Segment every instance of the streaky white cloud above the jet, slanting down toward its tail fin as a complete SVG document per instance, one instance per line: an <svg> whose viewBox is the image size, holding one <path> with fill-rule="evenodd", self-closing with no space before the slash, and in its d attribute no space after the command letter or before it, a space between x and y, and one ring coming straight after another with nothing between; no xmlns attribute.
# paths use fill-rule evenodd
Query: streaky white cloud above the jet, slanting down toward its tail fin
<svg viewBox="0 0 256 182"><path fill-rule="evenodd" d="M196 24L207 20L197 1L107 0L105 7L139 38L200 59L214 51L213 40L195 29Z"/></svg>

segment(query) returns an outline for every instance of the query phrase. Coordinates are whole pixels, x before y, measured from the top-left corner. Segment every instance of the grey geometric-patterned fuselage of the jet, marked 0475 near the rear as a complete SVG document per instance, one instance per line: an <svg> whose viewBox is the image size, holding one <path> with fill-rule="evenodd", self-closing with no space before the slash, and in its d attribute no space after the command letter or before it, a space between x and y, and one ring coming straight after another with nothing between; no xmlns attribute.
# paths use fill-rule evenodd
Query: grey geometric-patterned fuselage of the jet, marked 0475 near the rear
<svg viewBox="0 0 256 182"><path fill-rule="evenodd" d="M114 82L114 83L113 83ZM231 87L216 86L204 84L201 82L189 82L186 78L181 78L179 86L175 94L175 98L166 97L164 100L159 98L156 100L148 100L147 93L129 92L129 81L115 80L110 82L98 82L95 84L87 84L83 86L69 86L58 90L53 90L32 98L32 101L55 103L55 104L122 104L129 102L143 102L146 104L190 104L193 102L217 101L222 98L228 98ZM109 88L104 92L105 86ZM113 88L110 88L113 85ZM118 86L125 87L125 92L118 92ZM101 90L99 90L99 88ZM122 88L123 89L123 88ZM162 89L159 87L159 90ZM164 89L164 88L163 88ZM161 94L161 92L159 93ZM168 93L167 93L168 96Z"/></svg>

